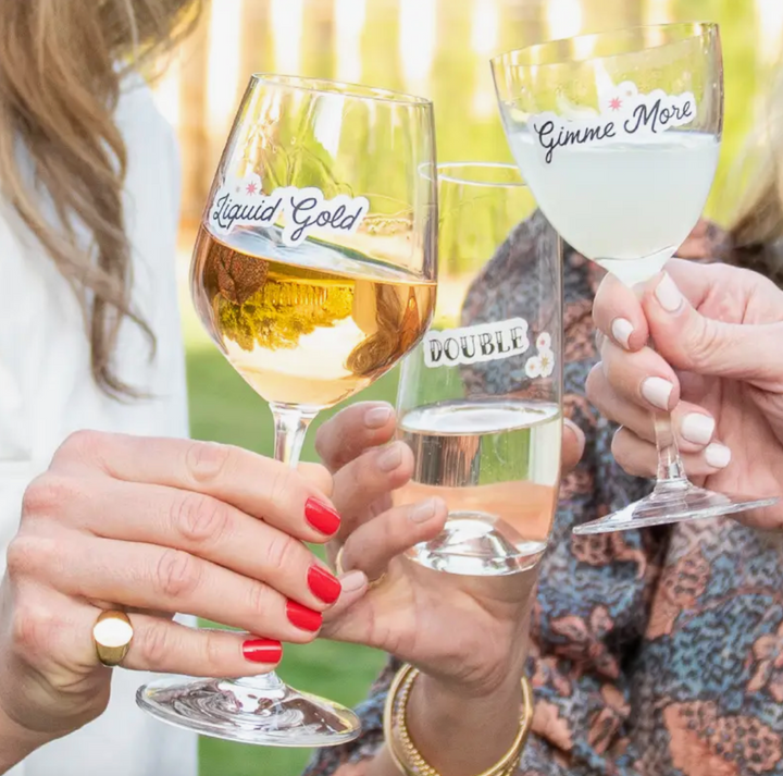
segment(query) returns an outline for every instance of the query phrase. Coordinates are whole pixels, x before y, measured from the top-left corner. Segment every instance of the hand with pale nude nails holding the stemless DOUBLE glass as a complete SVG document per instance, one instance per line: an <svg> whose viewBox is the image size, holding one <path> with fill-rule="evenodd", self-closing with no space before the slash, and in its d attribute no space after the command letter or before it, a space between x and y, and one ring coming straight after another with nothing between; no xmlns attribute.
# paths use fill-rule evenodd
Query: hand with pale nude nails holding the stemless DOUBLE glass
<svg viewBox="0 0 783 776"><path fill-rule="evenodd" d="M335 505L343 515L330 549L334 554L343 547L346 570L360 569L370 580L383 577L366 592L344 595L327 615L324 635L375 646L419 667L409 718L422 752L444 773L477 773L502 754L517 730L509 709L519 707L536 572L462 577L400 557L438 534L447 506L439 498L393 506L391 491L413 470L410 448L387 444L395 428L388 405L358 404L319 430L316 447L334 472ZM567 467L580 459L583 443L568 424ZM465 750L438 738L447 735L453 742L462 728Z"/></svg>

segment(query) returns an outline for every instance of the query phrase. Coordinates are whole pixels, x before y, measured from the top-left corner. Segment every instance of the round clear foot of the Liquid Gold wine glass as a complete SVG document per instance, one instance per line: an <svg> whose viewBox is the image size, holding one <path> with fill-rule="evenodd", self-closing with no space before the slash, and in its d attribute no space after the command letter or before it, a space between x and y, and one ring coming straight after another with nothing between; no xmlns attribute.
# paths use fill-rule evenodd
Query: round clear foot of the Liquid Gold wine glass
<svg viewBox="0 0 783 776"><path fill-rule="evenodd" d="M361 732L353 712L299 692L276 674L244 679L165 677L139 688L136 703L170 725L262 747L335 747Z"/></svg>

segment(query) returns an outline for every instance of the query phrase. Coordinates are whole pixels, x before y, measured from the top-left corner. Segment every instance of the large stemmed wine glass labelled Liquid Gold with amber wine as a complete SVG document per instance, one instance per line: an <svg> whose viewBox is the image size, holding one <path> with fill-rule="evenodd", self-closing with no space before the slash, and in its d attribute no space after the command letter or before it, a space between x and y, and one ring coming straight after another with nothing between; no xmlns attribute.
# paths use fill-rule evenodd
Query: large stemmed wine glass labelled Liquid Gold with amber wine
<svg viewBox="0 0 783 776"><path fill-rule="evenodd" d="M428 100L254 75L215 174L191 263L192 298L223 355L264 398L275 457L295 467L310 421L394 367L436 292L437 187ZM154 716L281 747L359 735L347 709L275 674L165 678Z"/></svg>

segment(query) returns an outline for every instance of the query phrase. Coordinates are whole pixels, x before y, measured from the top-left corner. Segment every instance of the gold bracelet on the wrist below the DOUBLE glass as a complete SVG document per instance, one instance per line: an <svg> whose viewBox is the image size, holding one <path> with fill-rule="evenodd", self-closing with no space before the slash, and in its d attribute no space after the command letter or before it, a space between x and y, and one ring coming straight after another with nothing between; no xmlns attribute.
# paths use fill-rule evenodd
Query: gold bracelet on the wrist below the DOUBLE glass
<svg viewBox="0 0 783 776"><path fill-rule="evenodd" d="M403 665L397 673L389 687L384 711L384 738L389 755L400 773L406 776L440 776L440 774L424 760L408 732L406 715L408 699L413 682L419 676L419 669L411 665ZM533 723L533 691L526 677L522 678L522 715L520 729L511 748L501 760L480 776L513 776L522 759L522 751L527 741Z"/></svg>

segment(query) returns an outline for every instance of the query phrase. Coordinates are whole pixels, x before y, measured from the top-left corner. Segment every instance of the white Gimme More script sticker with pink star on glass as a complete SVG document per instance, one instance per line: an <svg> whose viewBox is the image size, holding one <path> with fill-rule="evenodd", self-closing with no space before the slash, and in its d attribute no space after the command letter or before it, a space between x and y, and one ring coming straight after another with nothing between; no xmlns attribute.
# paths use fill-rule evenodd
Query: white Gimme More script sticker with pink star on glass
<svg viewBox="0 0 783 776"><path fill-rule="evenodd" d="M552 163L558 149L649 138L696 119L696 98L689 91L668 95L656 89L645 95L630 81L604 93L599 107L600 112L586 118L564 119L555 113L531 118L533 141L547 164Z"/></svg>

